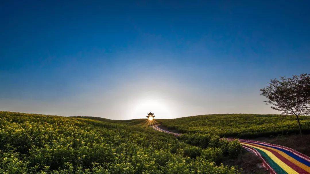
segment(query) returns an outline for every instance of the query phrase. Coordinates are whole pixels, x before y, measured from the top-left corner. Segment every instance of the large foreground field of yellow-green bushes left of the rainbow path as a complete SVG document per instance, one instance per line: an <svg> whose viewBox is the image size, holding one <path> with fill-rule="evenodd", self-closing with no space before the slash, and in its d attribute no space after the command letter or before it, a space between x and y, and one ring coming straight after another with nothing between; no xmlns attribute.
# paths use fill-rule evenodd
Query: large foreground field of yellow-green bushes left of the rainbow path
<svg viewBox="0 0 310 174"><path fill-rule="evenodd" d="M240 151L237 141L214 134L178 140L138 125L0 112L3 174L236 174L221 161Z"/></svg>

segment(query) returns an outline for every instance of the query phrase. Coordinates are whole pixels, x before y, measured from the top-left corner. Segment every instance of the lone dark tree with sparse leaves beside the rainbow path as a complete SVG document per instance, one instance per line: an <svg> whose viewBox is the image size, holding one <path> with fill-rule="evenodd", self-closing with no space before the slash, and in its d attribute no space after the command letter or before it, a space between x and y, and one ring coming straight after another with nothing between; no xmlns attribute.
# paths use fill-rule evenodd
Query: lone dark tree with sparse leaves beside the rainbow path
<svg viewBox="0 0 310 174"><path fill-rule="evenodd" d="M265 104L272 104L272 109L281 111L281 114L296 116L301 135L299 115L310 114L310 74L272 79L269 86L260 91L261 95L268 98Z"/></svg>

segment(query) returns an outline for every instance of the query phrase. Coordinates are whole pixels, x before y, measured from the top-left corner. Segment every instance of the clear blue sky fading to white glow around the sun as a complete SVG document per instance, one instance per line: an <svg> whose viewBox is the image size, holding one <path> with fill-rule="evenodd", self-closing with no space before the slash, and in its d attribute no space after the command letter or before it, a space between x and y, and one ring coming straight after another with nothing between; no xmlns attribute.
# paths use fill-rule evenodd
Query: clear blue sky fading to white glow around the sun
<svg viewBox="0 0 310 174"><path fill-rule="evenodd" d="M310 73L309 1L2 1L0 110L109 119L279 113Z"/></svg>

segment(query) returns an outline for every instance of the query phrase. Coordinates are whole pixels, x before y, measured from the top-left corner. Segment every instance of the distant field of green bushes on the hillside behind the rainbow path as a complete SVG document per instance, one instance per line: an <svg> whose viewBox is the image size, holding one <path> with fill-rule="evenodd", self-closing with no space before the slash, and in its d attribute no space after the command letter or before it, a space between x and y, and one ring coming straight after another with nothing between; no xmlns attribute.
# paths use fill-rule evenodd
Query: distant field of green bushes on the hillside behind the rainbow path
<svg viewBox="0 0 310 174"><path fill-rule="evenodd" d="M303 133L310 133L310 117L300 116ZM180 133L211 133L220 137L255 138L299 133L295 116L213 114L167 119L162 125Z"/></svg>

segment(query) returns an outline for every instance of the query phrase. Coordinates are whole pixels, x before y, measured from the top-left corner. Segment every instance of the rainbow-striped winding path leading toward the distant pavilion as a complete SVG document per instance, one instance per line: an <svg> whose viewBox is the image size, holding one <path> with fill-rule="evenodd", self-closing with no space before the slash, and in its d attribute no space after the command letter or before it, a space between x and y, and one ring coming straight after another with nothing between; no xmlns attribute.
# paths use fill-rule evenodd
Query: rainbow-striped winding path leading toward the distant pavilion
<svg viewBox="0 0 310 174"><path fill-rule="evenodd" d="M180 134L170 132L158 127L151 127L157 131L179 136ZM235 139L227 138L228 141ZM263 161L263 167L271 174L310 174L310 157L285 146L279 146L266 142L239 139L242 147L252 151Z"/></svg>

